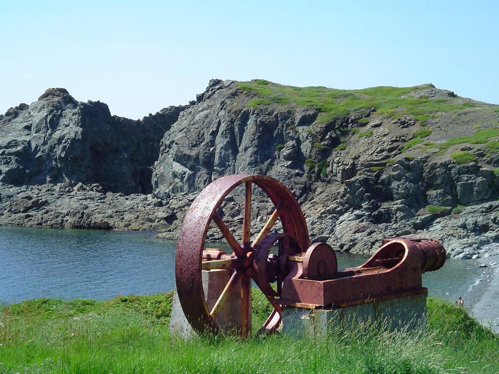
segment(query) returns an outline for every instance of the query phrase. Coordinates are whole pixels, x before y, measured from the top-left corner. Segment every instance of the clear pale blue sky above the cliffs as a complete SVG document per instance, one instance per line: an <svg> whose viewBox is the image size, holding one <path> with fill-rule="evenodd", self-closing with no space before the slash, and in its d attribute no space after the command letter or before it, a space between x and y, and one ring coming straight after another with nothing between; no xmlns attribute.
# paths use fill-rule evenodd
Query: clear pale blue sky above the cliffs
<svg viewBox="0 0 499 374"><path fill-rule="evenodd" d="M49 87L142 118L211 78L499 103L499 0L0 0L0 113Z"/></svg>

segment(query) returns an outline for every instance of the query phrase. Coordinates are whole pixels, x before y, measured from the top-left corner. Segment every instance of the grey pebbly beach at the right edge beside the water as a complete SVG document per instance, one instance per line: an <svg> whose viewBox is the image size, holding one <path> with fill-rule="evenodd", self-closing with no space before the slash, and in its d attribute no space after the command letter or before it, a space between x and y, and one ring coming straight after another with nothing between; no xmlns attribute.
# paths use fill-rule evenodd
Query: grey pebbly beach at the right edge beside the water
<svg viewBox="0 0 499 374"><path fill-rule="evenodd" d="M488 250L487 257L477 261L484 272L465 296L465 308L484 326L499 333L499 249Z"/></svg>

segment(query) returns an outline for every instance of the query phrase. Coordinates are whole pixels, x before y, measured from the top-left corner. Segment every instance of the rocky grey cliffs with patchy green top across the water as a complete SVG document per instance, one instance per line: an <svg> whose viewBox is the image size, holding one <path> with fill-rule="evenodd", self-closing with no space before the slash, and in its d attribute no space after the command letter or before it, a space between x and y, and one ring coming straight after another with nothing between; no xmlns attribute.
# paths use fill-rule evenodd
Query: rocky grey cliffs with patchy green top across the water
<svg viewBox="0 0 499 374"><path fill-rule="evenodd" d="M141 121L49 89L0 116L0 223L175 238L211 181L266 174L295 193L313 240L369 252L385 237L420 235L477 257L499 240L498 140L498 105L430 84L212 80L189 105Z"/></svg>

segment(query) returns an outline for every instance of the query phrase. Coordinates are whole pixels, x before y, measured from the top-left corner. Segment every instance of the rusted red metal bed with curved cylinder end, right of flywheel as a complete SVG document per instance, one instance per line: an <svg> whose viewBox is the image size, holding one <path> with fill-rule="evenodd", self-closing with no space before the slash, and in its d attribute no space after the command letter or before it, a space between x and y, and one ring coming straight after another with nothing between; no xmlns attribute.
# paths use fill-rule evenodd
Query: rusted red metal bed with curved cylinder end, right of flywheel
<svg viewBox="0 0 499 374"><path fill-rule="evenodd" d="M284 280L279 301L320 307L397 297L394 295L422 290L421 274L438 270L445 259L445 249L438 241L405 237L385 241L364 264L338 270L325 280L307 279L303 264L293 262L296 269Z"/></svg>

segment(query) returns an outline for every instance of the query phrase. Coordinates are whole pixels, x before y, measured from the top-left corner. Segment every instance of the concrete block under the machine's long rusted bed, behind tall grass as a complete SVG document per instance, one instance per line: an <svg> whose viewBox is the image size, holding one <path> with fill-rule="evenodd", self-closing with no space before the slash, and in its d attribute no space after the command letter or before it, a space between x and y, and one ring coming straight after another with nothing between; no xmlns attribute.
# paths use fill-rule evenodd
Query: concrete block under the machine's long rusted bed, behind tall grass
<svg viewBox="0 0 499 374"><path fill-rule="evenodd" d="M426 329L427 293L358 304L337 309L284 306L281 332L291 336L326 335L335 328L374 323L390 330Z"/></svg>

